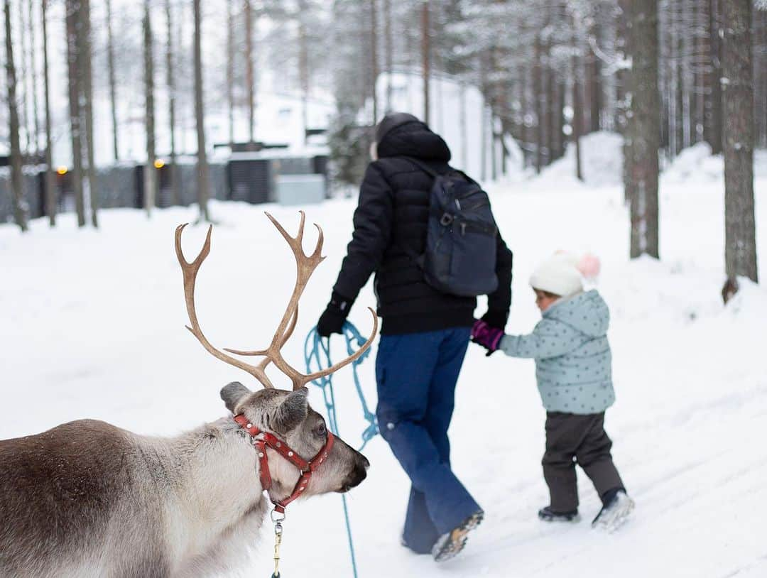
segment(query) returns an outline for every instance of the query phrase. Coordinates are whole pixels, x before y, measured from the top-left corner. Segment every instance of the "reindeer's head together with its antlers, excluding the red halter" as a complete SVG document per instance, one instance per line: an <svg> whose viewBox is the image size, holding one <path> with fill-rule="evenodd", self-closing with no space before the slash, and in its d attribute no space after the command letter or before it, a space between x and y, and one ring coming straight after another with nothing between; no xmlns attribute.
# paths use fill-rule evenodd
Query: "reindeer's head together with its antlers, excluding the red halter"
<svg viewBox="0 0 767 578"><path fill-rule="evenodd" d="M263 356L262 362L257 366L253 366L227 353L223 353L223 351L211 345L199 327L194 304L194 287L197 271L199 271L202 261L205 261L210 252L212 227L208 229L208 235L205 245L202 246L202 251L191 263L184 259L183 252L181 251L181 234L186 225L179 225L176 228L176 256L183 271L186 311L189 314L189 321L191 323L191 327L186 328L193 333L209 353L225 363L243 369L258 379L266 388L261 391L251 392L241 383L230 383L221 390L221 397L226 407L235 415L245 415L249 422L263 432L270 432L284 440L288 447L298 452L304 459L311 459L324 446L328 434L322 416L314 412L308 405L308 390L305 385L314 379L334 373L348 363L357 360L370 347L370 344L373 343L378 330L378 320L374 310L369 308L374 320L373 332L370 338L356 353L334 364L334 366L314 373L304 374L289 365L282 357L281 349L285 346L288 338L291 337L298 321L298 300L304 292L304 287L306 287L314 269L324 259L321 256L323 235L322 229L315 225L319 232L317 247L311 255L306 255L302 245L304 239L303 212L301 212L301 223L298 225L298 235L295 237L288 235L272 215L266 213L266 216L272 221L282 237L285 238L285 241L288 241L288 245L290 245L295 255L298 269L295 288L288 302L285 314L282 316L275 332L275 336L272 337L272 343L269 344L267 349L252 351L223 350L241 356ZM265 373L269 363L274 363L282 373L291 379L293 384L292 392L274 389L272 382ZM273 450L270 449L268 452L273 452ZM298 468L289 461L281 459L272 462L275 464L272 480L278 486L274 488L272 497L279 498L279 494L290 494L289 488L293 488L300 476ZM369 465L369 462L363 455L354 451L341 439L336 438L327 461L324 463L323 468L318 471L318 474L311 478L304 495L322 494L328 491L347 491L354 488L354 486L364 480L367 475L366 469Z"/></svg>

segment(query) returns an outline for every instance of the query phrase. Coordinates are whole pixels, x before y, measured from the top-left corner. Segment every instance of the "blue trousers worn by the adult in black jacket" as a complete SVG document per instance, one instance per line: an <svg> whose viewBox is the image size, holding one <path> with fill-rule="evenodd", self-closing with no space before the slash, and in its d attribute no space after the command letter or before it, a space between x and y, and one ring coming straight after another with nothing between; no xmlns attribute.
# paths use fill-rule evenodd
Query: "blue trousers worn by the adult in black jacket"
<svg viewBox="0 0 767 578"><path fill-rule="evenodd" d="M403 539L420 553L480 509L450 469L447 438L469 334L385 335L378 346L378 425L412 483Z"/></svg>

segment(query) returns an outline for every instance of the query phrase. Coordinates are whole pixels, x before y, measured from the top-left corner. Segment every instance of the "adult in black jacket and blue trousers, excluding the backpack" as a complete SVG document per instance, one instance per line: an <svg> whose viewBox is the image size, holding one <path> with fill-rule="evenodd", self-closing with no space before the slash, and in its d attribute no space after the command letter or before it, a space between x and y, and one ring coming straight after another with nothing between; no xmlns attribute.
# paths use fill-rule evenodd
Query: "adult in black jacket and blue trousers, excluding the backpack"
<svg viewBox="0 0 767 578"><path fill-rule="evenodd" d="M341 327L360 289L375 273L381 340L376 360L377 419L412 481L402 541L438 560L453 557L483 512L450 468L447 430L469 343L475 297L437 291L412 255L426 243L433 176L453 171L445 141L407 113L391 113L376 130L354 233L331 301L318 322L328 337ZM511 305L512 252L497 235L499 288L482 317L505 327Z"/></svg>

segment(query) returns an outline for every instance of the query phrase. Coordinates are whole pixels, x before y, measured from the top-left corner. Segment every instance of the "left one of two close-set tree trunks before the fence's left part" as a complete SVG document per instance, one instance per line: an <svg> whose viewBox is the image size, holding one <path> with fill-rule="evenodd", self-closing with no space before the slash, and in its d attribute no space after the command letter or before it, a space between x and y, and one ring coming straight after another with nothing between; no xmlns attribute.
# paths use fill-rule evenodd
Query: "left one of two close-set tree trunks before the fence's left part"
<svg viewBox="0 0 767 578"><path fill-rule="evenodd" d="M72 189L77 226L85 226L85 201L83 196L83 146L81 135L80 67L77 56L78 38L81 34L81 5L78 0L66 2L67 73L69 76L69 126L72 145Z"/></svg>

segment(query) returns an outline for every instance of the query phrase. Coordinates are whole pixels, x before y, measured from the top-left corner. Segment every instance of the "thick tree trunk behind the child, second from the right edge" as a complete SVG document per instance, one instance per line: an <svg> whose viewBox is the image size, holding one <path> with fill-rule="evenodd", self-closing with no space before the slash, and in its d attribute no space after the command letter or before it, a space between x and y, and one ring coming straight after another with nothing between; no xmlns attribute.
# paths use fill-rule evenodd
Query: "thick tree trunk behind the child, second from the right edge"
<svg viewBox="0 0 767 578"><path fill-rule="evenodd" d="M631 0L631 258L658 258L658 2Z"/></svg>

